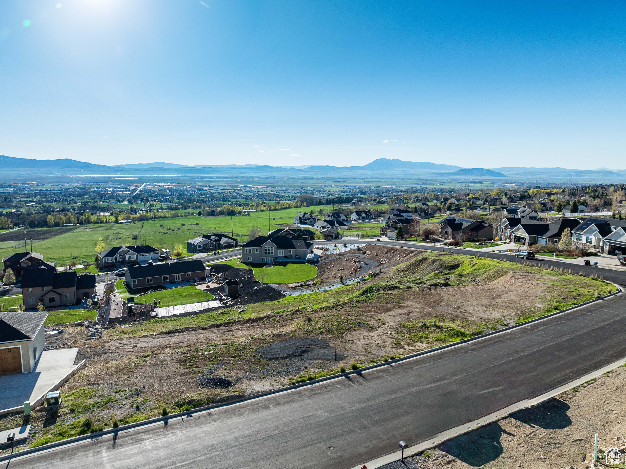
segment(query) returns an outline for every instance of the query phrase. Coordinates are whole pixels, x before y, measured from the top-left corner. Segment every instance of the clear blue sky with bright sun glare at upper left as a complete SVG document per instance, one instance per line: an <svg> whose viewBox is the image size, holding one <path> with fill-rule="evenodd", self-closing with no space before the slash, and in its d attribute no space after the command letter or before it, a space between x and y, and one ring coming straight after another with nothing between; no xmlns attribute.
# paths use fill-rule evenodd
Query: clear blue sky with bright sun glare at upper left
<svg viewBox="0 0 626 469"><path fill-rule="evenodd" d="M0 3L0 154L625 168L626 3Z"/></svg>

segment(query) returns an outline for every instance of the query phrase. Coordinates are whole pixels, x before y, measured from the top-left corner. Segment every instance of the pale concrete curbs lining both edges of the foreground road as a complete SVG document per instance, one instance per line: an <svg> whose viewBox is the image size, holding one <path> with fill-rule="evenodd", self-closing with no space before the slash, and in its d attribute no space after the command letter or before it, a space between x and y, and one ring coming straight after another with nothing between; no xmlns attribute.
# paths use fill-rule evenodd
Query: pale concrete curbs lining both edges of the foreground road
<svg viewBox="0 0 626 469"><path fill-rule="evenodd" d="M608 283L610 283L610 282L608 282ZM615 284L613 284L613 285L615 285ZM451 348L451 347L456 347L456 346L460 346L462 344L466 344L466 343L469 343L469 342L481 340L481 339L484 339L486 337L493 336L495 334L508 332L508 331L511 331L512 329L517 329L518 327L527 326L528 324L532 324L533 322L544 321L545 319L549 319L551 317L558 316L559 314L564 314L566 312L572 311L573 309L577 309L577 308L580 308L580 307L585 307L585 306L587 306L589 304L592 304L593 302L603 301L604 299L607 299L608 297L612 297L612 296L616 296L617 294L621 294L622 293L622 289L619 286L617 286L617 285L615 285L615 287L617 287L617 291L615 291L613 293L610 293L608 295L601 296L601 297L598 297L598 298L594 298L594 299L592 299L590 301L578 304L576 306L568 307L566 309L562 309L561 311L555 311L555 312L552 312L550 314L546 314L545 316L536 317L535 319L529 319L528 321L520 322L520 324L514 324L513 326L503 327L503 329L498 329L498 331L486 332L485 334L481 334L480 336L475 336L475 337L472 337L472 338L460 340L458 342L453 342L453 343L450 343L450 344L441 345L439 347L435 347L435 348L432 348L432 349L416 352L416 353L409 354L409 355L406 355L406 356L403 356L403 357L400 357L400 358L394 358L394 359L391 359L391 360L386 361L386 362L376 363L376 364L372 364L372 365L369 365L369 366L364 366L363 368L359 368L359 369L354 370L354 371L352 371L352 370L351 371L347 371L346 373L331 374L330 376L325 376L324 378L314 379L313 381L306 381L305 383L292 384L291 386L285 386L284 388L280 388L280 389L272 389L270 391L265 391L264 393L254 394L252 396L247 396L247 397L244 397L244 398L235 399L233 401L228 401L228 402L225 402L225 403L217 403L217 404L212 404L212 405L208 405L208 406L198 407L198 408L195 408L193 410L189 410L189 411L185 411L185 412L178 412L178 413L170 414L170 415L167 415L167 416L161 416L161 417L151 418L151 419L148 419L148 420L143 420L143 421L137 422L137 423L129 423L127 425L121 425L118 428L110 428L108 430L96 431L95 433L88 433L86 435L74 436L73 438L68 438L66 440L61 440L61 441L55 441L54 443L48 443L47 445L41 445L41 446L38 446L36 448L27 448L25 450L18 451L17 453L13 453L13 455L0 456L0 462L1 461L11 460L12 458L18 458L20 456L31 455L33 453L38 453L39 451L51 450L53 448L58 448L59 446L71 445L73 443L78 443L80 441L93 440L95 438L100 438L101 436L105 436L105 435L117 434L117 433L120 433L121 431L132 430L133 428L140 428L142 426L152 425L153 423L159 423L159 422L167 421L167 420L170 420L170 419L173 419L173 418L178 418L178 417L182 418L183 416L195 415L197 413L201 413L201 412L204 412L204 411L207 411L207 410L213 410L213 409L216 409L216 408L225 408L225 407L228 407L228 406L231 406L231 405L236 405L236 404L244 403L244 402L247 402L247 401L252 401L254 399L265 398L267 396L272 396L274 394L294 391L295 389L305 388L307 386L314 386L315 384L324 383L326 381L331 381L332 379L344 378L346 376L351 376L353 374L361 374L364 371L370 371L372 369L382 368L383 366L389 366L389 365L394 364L394 363L400 363L400 362L403 362L403 361L408 361L408 360L411 360L411 359L414 359L414 358L418 358L420 356L424 356L424 355L428 355L428 354L432 354L432 353L438 353L439 351L442 351L442 350L445 350L445 349L448 349L448 348ZM620 361L620 364L621 363L622 363L622 361ZM604 368L602 368L602 369L604 369ZM585 381L587 379L585 379ZM578 381L576 381L576 382L578 382ZM582 382L584 382L584 381L581 381L581 383ZM570 383L566 384L565 386L569 386L569 384ZM573 386L575 386L575 384ZM572 386L570 386L570 387L572 387ZM562 388L557 388L557 389L562 389ZM565 388L565 389L568 389L568 388ZM558 393L560 393L560 392L562 392L562 391L558 391ZM547 398L544 398L542 400L545 400L545 399L547 399ZM523 401L523 403L526 403L526 402L530 402L530 401ZM525 404L523 407L526 407L526 406L529 406L529 405L532 405L532 404ZM523 408L523 407L520 407L520 408ZM508 407L506 409L510 409L510 407ZM499 411L498 413L495 413L495 414L492 414L492 415L496 415L496 414L500 415L500 413L503 412L503 411L504 410ZM508 410L508 413L511 413L511 412L512 412L512 410ZM498 418L503 418L503 417L500 416ZM483 420L481 419L480 421L483 421ZM475 421L475 422L478 422L478 421ZM472 430L473 428L476 428L476 426L478 426L478 424L476 424L475 422L467 423L467 424L465 424L462 427L464 428L465 426L471 424L471 425L473 425L473 427L468 428L468 430ZM490 423L490 421L486 421L485 420L484 423L482 423L481 425L486 425L486 423ZM461 427L458 427L458 428L461 428ZM464 430L464 431L468 431L468 430ZM449 431L451 431L451 430L449 430ZM463 431L463 433L464 433L464 431ZM444 432L444 433L446 433L446 432ZM460 435L460 433L458 433L458 434ZM443 435L443 434L439 434L439 435ZM439 435L436 436L435 439L438 438ZM449 438L453 438L453 436L456 436L456 434L455 435L446 436L446 438L444 440L441 440L441 441L445 441L445 440L448 440ZM433 440L428 440L428 441L434 441L434 439ZM425 444L425 443L421 443L421 445L423 445L423 444ZM430 446L425 447L423 449L430 448L430 447L433 446L433 444L430 444ZM439 443L436 443L436 444L439 444ZM418 451L418 450L411 449L411 451L415 452L415 451ZM421 451L421 450L419 450L419 451ZM393 453L393 454L395 454L395 453ZM387 458L388 456L383 456L383 457ZM388 461L386 460L387 462L385 462L384 464L392 462L392 461L395 461L395 460L398 460L398 459L399 458L396 458L396 459L393 459L393 460L388 460ZM377 461L377 460L375 460L375 461Z"/></svg>

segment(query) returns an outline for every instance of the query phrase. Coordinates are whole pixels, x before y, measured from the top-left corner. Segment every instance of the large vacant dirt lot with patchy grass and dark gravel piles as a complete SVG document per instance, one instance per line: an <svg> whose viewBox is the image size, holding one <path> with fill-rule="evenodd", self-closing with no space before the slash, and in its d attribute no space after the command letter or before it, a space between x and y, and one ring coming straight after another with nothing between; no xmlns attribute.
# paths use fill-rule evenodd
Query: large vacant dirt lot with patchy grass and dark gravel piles
<svg viewBox="0 0 626 469"><path fill-rule="evenodd" d="M245 269L222 266L220 273L244 284L246 312L238 306L208 316L155 319L106 330L96 340L88 339L85 327L64 326L63 334L48 338L49 346L79 347L78 359L88 362L61 389L58 413L34 411L28 443L84 433L86 418L96 427L110 426L113 415L122 423L138 421L160 415L163 406L193 408L337 373L354 362L379 363L540 314L554 298L582 301L580 292L595 296L608 289L593 279L495 260L387 251L367 254L386 255L389 262L361 285L259 304L254 302L273 299L275 292L259 289ZM407 260L406 267L393 269ZM423 276L441 278L443 268L461 272L445 276L446 283L466 284L420 283ZM0 416L0 430L21 422L19 415Z"/></svg>

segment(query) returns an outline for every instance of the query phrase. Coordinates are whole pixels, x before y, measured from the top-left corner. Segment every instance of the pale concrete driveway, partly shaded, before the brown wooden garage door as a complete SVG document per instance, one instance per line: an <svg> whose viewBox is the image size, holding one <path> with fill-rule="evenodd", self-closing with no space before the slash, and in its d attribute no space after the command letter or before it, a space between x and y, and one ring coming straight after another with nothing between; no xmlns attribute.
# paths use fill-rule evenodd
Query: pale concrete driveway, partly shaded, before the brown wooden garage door
<svg viewBox="0 0 626 469"><path fill-rule="evenodd" d="M44 351L30 373L0 376L0 411L34 402L74 369L78 349Z"/></svg>

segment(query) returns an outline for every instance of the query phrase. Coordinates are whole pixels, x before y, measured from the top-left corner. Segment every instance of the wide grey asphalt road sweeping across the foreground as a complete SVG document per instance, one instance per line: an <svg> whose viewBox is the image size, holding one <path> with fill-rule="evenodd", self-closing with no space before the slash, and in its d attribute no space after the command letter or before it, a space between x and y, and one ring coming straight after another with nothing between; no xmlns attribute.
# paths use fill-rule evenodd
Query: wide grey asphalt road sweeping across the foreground
<svg viewBox="0 0 626 469"><path fill-rule="evenodd" d="M620 271L598 274L626 283ZM624 319L623 295L613 296L361 376L17 458L10 467L351 468L396 451L399 440L428 440L626 357Z"/></svg>

